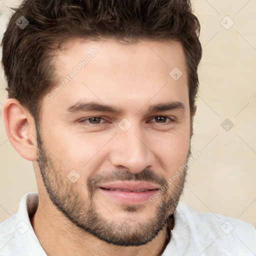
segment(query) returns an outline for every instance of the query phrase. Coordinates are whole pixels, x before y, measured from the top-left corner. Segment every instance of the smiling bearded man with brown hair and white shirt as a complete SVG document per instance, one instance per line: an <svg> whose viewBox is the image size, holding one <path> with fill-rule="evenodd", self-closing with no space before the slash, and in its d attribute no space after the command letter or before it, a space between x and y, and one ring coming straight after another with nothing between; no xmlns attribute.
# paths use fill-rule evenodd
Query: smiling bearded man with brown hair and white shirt
<svg viewBox="0 0 256 256"><path fill-rule="evenodd" d="M25 0L2 40L10 142L37 192L0 255L255 255L255 228L179 201L201 59L187 0Z"/></svg>

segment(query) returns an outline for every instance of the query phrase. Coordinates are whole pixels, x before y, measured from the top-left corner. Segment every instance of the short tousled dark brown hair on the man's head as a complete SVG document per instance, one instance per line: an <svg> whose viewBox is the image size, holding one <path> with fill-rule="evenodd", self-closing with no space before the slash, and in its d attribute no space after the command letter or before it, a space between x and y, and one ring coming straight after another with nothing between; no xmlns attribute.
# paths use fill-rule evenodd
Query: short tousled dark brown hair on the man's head
<svg viewBox="0 0 256 256"><path fill-rule="evenodd" d="M189 0L24 0L12 9L1 43L6 89L8 97L16 98L34 119L39 117L41 99L57 82L54 51L75 37L181 42L193 109L202 48L200 24ZM29 22L23 29L16 23L21 16Z"/></svg>

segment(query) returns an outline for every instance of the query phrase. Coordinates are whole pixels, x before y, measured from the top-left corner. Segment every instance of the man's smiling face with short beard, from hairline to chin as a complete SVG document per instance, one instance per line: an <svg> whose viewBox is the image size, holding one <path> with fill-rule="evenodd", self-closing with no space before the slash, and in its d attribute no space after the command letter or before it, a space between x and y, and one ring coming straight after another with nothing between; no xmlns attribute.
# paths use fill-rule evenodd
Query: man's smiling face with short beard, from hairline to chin
<svg viewBox="0 0 256 256"><path fill-rule="evenodd" d="M66 46L37 125L43 196L101 240L145 244L174 212L185 170L172 176L190 154L182 46L114 39Z"/></svg>

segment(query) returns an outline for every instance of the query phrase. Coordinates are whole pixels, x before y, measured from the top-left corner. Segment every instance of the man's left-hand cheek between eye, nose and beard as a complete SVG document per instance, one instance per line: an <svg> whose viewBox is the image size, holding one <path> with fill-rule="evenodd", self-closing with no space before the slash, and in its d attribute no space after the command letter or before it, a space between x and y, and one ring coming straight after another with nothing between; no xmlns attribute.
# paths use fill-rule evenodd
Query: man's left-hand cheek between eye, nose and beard
<svg viewBox="0 0 256 256"><path fill-rule="evenodd" d="M64 166L66 173L74 169L81 180L86 181L106 157L107 147L104 145L109 141L109 134L64 132L63 128L61 132L56 130L45 140L47 149L61 163L61 167Z"/></svg>

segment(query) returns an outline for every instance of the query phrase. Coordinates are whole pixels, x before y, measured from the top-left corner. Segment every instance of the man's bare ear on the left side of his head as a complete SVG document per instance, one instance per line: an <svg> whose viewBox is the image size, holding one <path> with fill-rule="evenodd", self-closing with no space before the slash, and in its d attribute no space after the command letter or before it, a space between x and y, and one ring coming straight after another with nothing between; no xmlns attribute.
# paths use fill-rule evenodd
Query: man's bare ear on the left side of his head
<svg viewBox="0 0 256 256"><path fill-rule="evenodd" d="M14 99L3 107L7 136L16 151L25 159L36 161L36 130L31 114Z"/></svg>

